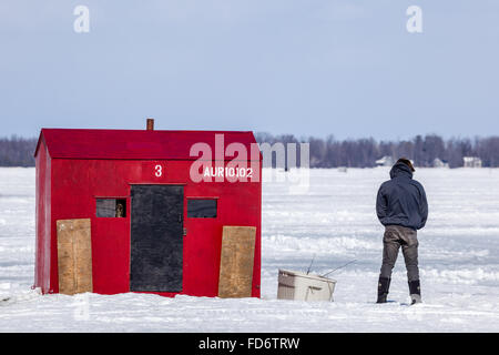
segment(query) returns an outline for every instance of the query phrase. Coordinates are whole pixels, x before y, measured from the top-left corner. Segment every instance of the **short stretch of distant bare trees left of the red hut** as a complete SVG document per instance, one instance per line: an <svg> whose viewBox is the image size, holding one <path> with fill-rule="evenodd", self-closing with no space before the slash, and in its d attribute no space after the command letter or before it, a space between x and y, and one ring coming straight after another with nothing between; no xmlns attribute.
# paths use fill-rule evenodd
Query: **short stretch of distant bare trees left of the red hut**
<svg viewBox="0 0 499 355"><path fill-rule="evenodd" d="M37 139L0 138L0 166L34 166Z"/></svg>

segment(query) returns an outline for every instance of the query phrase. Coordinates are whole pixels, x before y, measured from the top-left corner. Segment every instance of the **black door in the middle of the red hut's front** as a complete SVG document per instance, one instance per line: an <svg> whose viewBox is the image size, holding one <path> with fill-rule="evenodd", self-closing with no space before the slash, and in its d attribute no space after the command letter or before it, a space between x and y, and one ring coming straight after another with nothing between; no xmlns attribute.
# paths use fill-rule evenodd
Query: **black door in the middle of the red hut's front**
<svg viewBox="0 0 499 355"><path fill-rule="evenodd" d="M184 187L132 185L130 291L182 291Z"/></svg>

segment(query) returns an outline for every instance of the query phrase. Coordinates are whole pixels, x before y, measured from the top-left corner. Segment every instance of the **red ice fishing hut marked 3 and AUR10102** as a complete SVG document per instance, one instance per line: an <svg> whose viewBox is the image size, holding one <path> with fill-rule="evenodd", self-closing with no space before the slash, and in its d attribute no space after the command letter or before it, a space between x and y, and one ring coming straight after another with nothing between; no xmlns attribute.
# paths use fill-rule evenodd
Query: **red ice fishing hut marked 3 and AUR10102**
<svg viewBox="0 0 499 355"><path fill-rule="evenodd" d="M147 130L41 130L34 286L59 293L69 275L75 284L90 280L85 291L100 294L217 296L221 255L247 256L223 250L225 227L243 226L254 231L244 262L251 261L248 292L259 297L262 155L253 133L160 131L150 123ZM61 252L64 221L82 220L89 267L83 254Z"/></svg>

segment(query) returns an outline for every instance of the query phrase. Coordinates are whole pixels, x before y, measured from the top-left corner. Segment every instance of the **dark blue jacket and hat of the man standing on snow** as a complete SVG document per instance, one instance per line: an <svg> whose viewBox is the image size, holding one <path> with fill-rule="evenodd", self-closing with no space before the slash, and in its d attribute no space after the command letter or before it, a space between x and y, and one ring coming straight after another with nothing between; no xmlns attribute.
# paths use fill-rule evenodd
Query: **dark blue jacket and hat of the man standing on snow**
<svg viewBox="0 0 499 355"><path fill-rule="evenodd" d="M428 202L422 185L413 180L413 172L404 163L390 171L391 180L381 184L376 201L376 213L383 225L396 224L413 230L425 226Z"/></svg>

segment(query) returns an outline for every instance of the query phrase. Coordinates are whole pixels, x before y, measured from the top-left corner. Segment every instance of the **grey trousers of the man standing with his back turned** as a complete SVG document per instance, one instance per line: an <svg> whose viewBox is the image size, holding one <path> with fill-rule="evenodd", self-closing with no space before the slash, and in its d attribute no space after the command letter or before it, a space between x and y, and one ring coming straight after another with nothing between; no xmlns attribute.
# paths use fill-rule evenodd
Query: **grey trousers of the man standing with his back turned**
<svg viewBox="0 0 499 355"><path fill-rule="evenodd" d="M387 225L383 237L383 265L380 277L391 277L398 250L403 248L409 282L419 280L418 233L401 225Z"/></svg>

